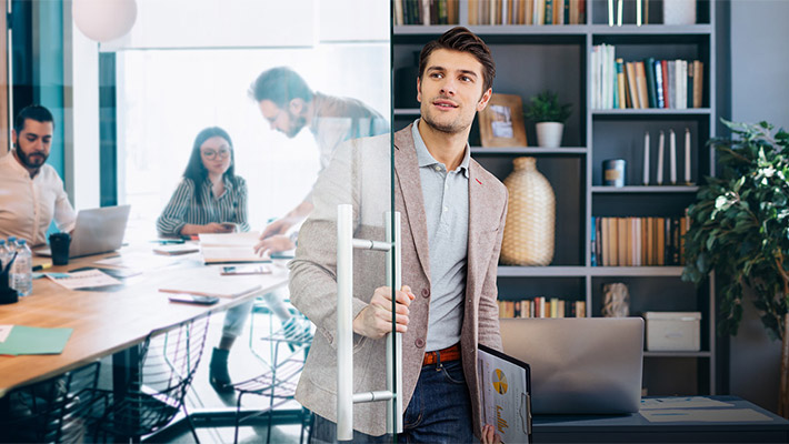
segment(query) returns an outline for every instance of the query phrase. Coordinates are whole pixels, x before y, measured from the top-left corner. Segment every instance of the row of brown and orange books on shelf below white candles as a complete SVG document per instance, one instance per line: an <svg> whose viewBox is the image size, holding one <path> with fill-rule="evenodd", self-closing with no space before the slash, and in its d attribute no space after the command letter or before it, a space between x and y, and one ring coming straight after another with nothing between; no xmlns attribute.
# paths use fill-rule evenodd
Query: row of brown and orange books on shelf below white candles
<svg viewBox="0 0 789 444"><path fill-rule="evenodd" d="M592 218L592 266L685 264L689 218Z"/></svg>

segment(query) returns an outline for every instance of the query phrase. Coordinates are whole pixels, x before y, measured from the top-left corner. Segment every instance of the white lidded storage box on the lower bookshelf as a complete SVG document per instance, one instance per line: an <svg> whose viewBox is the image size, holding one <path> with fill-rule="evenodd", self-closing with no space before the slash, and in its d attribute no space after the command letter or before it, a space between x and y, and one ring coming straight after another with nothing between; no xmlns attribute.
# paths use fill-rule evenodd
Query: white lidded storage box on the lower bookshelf
<svg viewBox="0 0 789 444"><path fill-rule="evenodd" d="M646 312L647 350L698 352L701 350L699 312Z"/></svg>

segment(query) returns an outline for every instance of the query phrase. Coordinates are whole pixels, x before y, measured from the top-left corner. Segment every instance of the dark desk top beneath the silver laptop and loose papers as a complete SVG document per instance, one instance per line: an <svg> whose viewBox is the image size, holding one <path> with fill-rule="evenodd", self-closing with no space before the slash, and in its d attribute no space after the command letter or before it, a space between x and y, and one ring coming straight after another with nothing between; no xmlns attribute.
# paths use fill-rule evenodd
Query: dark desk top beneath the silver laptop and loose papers
<svg viewBox="0 0 789 444"><path fill-rule="evenodd" d="M536 415L536 443L789 443L789 421L737 396L709 396L752 408L767 422L666 422L651 423L641 414Z"/></svg>

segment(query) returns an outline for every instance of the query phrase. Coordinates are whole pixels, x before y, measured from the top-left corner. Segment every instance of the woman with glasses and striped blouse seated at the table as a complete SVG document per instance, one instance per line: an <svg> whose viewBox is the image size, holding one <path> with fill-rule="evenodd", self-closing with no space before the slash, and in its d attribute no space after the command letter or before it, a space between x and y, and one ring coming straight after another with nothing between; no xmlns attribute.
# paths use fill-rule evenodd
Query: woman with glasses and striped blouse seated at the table
<svg viewBox="0 0 789 444"><path fill-rule="evenodd" d="M233 173L233 163L232 142L224 130L200 131L183 179L157 220L159 234L249 231L247 183Z"/></svg>

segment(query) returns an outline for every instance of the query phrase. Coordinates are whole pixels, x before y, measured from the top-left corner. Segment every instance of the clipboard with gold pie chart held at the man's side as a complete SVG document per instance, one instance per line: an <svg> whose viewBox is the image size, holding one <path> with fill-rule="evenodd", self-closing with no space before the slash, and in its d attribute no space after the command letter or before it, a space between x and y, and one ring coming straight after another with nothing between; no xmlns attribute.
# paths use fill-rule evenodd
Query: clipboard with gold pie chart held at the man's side
<svg viewBox="0 0 789 444"><path fill-rule="evenodd" d="M503 353L479 346L482 421L496 427L502 443L528 443L531 434L529 365Z"/></svg>

